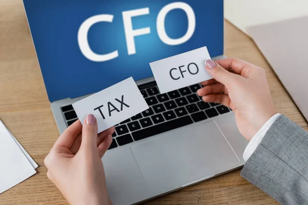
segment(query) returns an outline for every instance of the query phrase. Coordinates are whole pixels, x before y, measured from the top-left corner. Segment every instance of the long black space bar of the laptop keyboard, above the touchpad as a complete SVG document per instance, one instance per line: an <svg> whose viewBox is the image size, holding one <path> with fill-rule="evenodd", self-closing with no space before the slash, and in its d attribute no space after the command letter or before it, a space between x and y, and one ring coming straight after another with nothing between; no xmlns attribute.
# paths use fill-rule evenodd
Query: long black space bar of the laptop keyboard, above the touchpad
<svg viewBox="0 0 308 205"><path fill-rule="evenodd" d="M177 118L174 120L166 121L159 125L155 125L155 126L152 126L146 129L141 129L141 130L132 132L131 134L134 140L140 140L140 139L144 139L144 138L157 135L163 132L167 132L169 130L180 128L180 127L183 127L189 124L192 124L192 120L187 115L187 116Z"/></svg>

